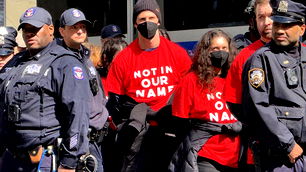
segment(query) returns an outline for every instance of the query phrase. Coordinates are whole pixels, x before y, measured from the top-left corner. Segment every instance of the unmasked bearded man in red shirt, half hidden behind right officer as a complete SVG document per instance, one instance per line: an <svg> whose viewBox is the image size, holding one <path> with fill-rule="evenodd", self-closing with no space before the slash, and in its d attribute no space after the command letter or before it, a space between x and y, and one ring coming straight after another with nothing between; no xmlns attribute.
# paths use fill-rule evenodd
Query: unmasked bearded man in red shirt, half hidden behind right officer
<svg viewBox="0 0 306 172"><path fill-rule="evenodd" d="M260 34L260 39L242 49L233 61L228 75L226 77L224 87L224 99L232 113L239 119L241 114L241 97L242 97L242 70L246 60L259 48L271 41L272 38L272 23L270 19L272 8L269 0L255 1L255 16L257 29ZM247 163L253 164L250 152L248 151Z"/></svg>

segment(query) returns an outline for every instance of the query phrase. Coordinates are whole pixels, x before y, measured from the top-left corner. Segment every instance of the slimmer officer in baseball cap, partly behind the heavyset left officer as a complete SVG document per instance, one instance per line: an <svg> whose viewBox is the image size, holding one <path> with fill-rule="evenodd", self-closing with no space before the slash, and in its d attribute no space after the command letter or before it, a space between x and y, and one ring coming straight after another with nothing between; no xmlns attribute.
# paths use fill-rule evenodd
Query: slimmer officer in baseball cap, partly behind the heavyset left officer
<svg viewBox="0 0 306 172"><path fill-rule="evenodd" d="M103 138L102 129L108 117L108 112L105 108L106 99L102 91L100 76L98 76L89 58L89 50L82 45L87 38L87 27L90 25L90 21L86 20L82 11L75 8L64 11L60 18L59 28L63 39L58 40L58 43L74 53L78 60L84 64L84 68L89 74L89 84L91 87L89 150L98 160L98 172L102 172L103 165L100 144Z"/></svg>

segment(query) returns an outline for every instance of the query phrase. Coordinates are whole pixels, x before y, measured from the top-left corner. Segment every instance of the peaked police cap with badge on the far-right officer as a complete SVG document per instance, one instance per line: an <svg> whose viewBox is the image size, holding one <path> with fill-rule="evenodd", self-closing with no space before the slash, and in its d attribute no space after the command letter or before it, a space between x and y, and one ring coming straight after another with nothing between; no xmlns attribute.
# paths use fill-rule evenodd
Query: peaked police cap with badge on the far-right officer
<svg viewBox="0 0 306 172"><path fill-rule="evenodd" d="M271 19L277 23L305 23L306 7L302 3L291 0L271 0L273 15Z"/></svg>

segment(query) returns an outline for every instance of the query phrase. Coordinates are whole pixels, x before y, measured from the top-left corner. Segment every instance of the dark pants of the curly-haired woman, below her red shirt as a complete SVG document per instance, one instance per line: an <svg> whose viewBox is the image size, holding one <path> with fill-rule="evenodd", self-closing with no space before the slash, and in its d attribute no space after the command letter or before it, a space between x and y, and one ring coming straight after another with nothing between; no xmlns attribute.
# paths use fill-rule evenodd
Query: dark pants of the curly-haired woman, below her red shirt
<svg viewBox="0 0 306 172"><path fill-rule="evenodd" d="M199 172L238 172L237 168L226 167L213 160L200 156L198 157L197 162Z"/></svg>

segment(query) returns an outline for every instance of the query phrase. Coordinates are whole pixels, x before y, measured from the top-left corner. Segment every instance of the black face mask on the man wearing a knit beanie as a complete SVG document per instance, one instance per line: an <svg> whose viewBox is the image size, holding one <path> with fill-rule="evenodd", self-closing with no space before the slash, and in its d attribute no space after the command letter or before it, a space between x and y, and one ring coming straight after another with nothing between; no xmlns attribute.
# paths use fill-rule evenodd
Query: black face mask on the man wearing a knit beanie
<svg viewBox="0 0 306 172"><path fill-rule="evenodd" d="M153 22L143 22L137 26L140 34L147 39L152 39L155 36L157 28L158 25Z"/></svg>

